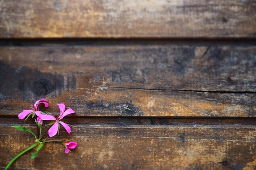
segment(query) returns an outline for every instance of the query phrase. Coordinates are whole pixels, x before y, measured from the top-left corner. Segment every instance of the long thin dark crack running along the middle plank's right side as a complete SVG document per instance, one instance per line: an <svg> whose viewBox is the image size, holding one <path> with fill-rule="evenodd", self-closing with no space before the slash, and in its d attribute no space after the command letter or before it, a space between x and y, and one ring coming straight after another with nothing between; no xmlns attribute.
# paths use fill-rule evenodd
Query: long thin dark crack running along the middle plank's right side
<svg viewBox="0 0 256 170"><path fill-rule="evenodd" d="M164 89L164 88L133 88L133 87L117 87L117 86L99 86L102 88L122 88L122 89L134 89L134 90L148 90L148 91L188 91L188 92L198 92L198 93L253 93L256 91L199 91L199 90L181 90L181 89Z"/></svg>

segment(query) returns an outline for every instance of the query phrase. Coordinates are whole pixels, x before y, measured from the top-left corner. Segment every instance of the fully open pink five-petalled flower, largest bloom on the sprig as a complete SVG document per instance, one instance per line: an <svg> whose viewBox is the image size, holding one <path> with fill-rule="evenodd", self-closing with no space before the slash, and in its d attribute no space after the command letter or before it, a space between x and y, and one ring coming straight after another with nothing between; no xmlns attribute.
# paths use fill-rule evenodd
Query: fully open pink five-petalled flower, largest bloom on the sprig
<svg viewBox="0 0 256 170"><path fill-rule="evenodd" d="M59 127L59 123L62 124L62 126L67 130L68 133L71 132L70 126L68 126L67 124L65 124L63 121L60 121L61 119L63 119L63 117L75 113L74 110L72 110L71 108L67 109L65 111L65 104L58 104L61 113L60 115L57 117L57 119L54 116L51 115L41 115L40 118L42 120L55 120L56 122L54 123L54 125L52 125L52 127L49 129L48 134L49 137L53 137L57 134L58 132L58 127Z"/></svg>

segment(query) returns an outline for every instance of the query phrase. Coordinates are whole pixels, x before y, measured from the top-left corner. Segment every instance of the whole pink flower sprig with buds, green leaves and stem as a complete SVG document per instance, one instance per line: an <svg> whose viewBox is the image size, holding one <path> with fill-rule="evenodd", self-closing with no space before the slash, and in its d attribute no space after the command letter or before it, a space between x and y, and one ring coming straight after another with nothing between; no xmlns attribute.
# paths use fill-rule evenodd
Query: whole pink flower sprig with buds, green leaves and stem
<svg viewBox="0 0 256 170"><path fill-rule="evenodd" d="M58 104L59 108L60 108L60 115L58 115L58 117L54 117L52 115L49 115L48 113L44 113L42 111L39 111L39 106L44 105L46 108L49 106L49 104L47 103L46 99L40 99L38 101L35 102L34 106L31 107L31 109L29 110L23 110L19 115L18 118L19 119L25 119L25 121L31 116L32 118L34 118L36 124L37 124L37 131L38 133L36 134L35 132L33 132L32 130L25 128L24 126L12 126L13 128L16 128L17 130L25 130L30 132L32 135L34 135L34 137L36 138L36 143L32 146L30 146L29 148L23 150L22 152L20 152L16 157L14 157L10 163L7 165L7 167L4 170L7 170L9 168L9 166L11 166L11 164L18 159L18 157L20 157L21 155L23 155L25 152L31 150L32 148L38 146L36 152L34 152L31 156L31 159L34 159L38 153L39 150L41 150L44 146L45 143L47 142L60 142L61 144L63 144L63 146L65 147L65 153L69 153L70 149L74 149L77 146L77 143L74 141L62 141L62 140L47 140L45 139L45 135L48 132L49 137L53 137L55 136L57 133L59 133L60 130L60 126L63 126L65 128L65 130L67 130L68 133L71 132L71 128L68 124L66 124L64 121L62 121L62 119L67 116L70 115L72 113L75 113L74 110L72 110L71 108L68 108L67 110L65 110L65 104ZM43 121L51 121L46 125L43 125ZM45 126L49 126L48 130L45 131L45 133L43 135L41 135L42 132L42 128Z"/></svg>

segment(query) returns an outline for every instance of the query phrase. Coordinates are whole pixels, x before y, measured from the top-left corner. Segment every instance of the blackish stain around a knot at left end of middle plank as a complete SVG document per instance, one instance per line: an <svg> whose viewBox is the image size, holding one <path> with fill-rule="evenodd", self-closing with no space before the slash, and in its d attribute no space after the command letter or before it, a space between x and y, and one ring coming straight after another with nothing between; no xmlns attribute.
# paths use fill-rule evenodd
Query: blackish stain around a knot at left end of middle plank
<svg viewBox="0 0 256 170"><path fill-rule="evenodd" d="M2 61L0 62L0 79L1 82L5 82L0 84L1 99L8 98L10 94L25 99L31 93L38 98L56 91L56 88L58 88L58 93L61 93L64 88L61 75L42 73L38 69L24 66L13 68ZM52 93L52 95L56 96L57 93Z"/></svg>

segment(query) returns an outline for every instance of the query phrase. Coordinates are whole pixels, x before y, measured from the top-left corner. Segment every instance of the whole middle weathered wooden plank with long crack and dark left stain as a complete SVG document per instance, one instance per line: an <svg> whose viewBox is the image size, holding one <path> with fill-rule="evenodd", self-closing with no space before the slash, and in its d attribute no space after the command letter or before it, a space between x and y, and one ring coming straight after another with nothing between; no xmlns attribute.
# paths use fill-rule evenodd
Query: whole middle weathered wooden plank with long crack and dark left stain
<svg viewBox="0 0 256 170"><path fill-rule="evenodd" d="M255 61L255 46L2 47L0 115L46 97L77 116L254 117Z"/></svg>

